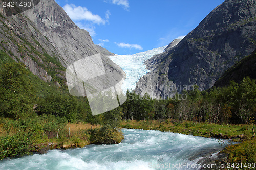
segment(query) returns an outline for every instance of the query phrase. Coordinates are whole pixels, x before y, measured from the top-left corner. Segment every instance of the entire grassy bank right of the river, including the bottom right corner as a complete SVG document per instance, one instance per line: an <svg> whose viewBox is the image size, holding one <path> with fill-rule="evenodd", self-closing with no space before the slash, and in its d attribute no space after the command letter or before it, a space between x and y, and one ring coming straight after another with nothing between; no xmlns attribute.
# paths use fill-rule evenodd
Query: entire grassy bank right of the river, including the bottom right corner
<svg viewBox="0 0 256 170"><path fill-rule="evenodd" d="M160 130L202 137L232 139L232 141L240 143L225 147L222 152L228 154L228 159L224 160L224 162L242 164L256 162L256 140L253 133L255 126L252 125L220 125L189 121L179 122L176 120L167 119L162 122L159 120L123 121L121 123L121 127L129 129ZM246 169L246 167L241 169Z"/></svg>

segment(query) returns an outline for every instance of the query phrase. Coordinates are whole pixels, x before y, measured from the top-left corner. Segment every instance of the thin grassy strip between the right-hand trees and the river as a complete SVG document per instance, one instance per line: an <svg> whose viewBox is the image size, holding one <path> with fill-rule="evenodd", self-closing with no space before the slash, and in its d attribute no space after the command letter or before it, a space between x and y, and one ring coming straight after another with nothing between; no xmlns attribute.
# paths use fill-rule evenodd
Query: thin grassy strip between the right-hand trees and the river
<svg viewBox="0 0 256 170"><path fill-rule="evenodd" d="M220 125L191 121L180 122L167 119L161 122L159 120L125 121L121 123L121 127L127 129L159 130L193 136L232 139L232 141L236 142L241 142L253 137L252 126L244 124Z"/></svg>

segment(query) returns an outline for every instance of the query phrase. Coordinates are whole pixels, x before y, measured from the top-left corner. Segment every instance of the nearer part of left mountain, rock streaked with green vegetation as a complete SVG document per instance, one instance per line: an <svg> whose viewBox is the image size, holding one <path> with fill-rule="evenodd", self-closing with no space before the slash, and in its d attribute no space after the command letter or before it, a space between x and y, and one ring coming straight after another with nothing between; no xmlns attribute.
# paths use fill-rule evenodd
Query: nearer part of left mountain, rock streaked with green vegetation
<svg viewBox="0 0 256 170"><path fill-rule="evenodd" d="M65 68L57 59L59 54L55 47L38 31L33 22L22 14L6 16L10 12L0 5L2 53L7 53L16 62L25 63L34 75L44 81L60 81Z"/></svg>

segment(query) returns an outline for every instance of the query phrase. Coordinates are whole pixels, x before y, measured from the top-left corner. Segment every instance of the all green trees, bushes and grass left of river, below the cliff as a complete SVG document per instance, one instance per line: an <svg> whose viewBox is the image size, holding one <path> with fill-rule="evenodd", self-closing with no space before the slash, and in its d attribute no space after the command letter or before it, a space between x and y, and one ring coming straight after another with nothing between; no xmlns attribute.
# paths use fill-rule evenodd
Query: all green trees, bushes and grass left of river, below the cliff
<svg viewBox="0 0 256 170"><path fill-rule="evenodd" d="M121 118L117 116L120 108L92 116L86 98L75 98L67 88L40 80L23 63L9 62L13 60L5 53L0 59L0 160L42 148L121 142L118 121L112 120ZM72 135L70 127L79 122L81 129ZM85 122L91 126L83 128ZM106 133L108 137L104 138Z"/></svg>

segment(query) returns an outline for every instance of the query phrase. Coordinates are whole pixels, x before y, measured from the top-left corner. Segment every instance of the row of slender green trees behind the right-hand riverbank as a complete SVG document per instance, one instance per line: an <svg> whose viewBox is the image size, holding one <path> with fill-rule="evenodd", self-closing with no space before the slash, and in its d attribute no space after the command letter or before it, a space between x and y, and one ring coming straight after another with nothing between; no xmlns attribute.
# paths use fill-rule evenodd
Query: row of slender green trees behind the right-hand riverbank
<svg viewBox="0 0 256 170"><path fill-rule="evenodd" d="M244 123L256 118L256 82L246 77L240 83L207 91L183 91L186 100L151 99L127 92L127 101L121 106L125 120L176 119L208 123ZM178 95L178 94L177 94ZM180 94L179 94L180 95ZM183 97L184 99L184 97Z"/></svg>

